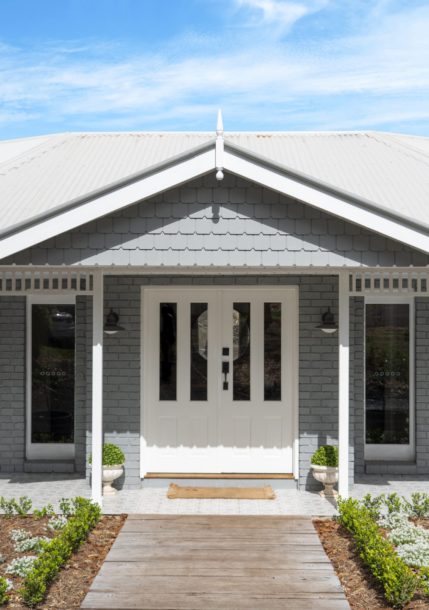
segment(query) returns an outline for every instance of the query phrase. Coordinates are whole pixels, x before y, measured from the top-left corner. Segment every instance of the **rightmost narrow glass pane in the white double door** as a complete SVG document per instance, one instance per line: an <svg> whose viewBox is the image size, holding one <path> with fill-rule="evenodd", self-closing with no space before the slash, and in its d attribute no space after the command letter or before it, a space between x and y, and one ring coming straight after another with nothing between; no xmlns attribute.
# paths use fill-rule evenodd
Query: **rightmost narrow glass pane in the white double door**
<svg viewBox="0 0 429 610"><path fill-rule="evenodd" d="M281 400L281 303L264 303L264 400Z"/></svg>

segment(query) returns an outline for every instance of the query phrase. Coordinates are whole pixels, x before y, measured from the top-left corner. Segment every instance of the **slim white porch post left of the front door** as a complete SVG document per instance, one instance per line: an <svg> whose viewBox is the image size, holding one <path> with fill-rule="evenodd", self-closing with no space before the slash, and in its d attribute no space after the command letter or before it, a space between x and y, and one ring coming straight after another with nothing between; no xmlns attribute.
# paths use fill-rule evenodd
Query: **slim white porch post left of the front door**
<svg viewBox="0 0 429 610"><path fill-rule="evenodd" d="M103 506L103 271L92 278L92 499Z"/></svg>

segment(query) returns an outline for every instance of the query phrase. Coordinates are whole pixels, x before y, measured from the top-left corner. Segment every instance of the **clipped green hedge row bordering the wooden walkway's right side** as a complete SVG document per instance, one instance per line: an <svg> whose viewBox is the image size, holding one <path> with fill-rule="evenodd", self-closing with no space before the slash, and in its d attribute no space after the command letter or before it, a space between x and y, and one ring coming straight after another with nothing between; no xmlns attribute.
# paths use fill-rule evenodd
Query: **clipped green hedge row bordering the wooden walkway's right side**
<svg viewBox="0 0 429 610"><path fill-rule="evenodd" d="M422 586L420 576L412 572L383 538L368 509L358 500L338 499L339 521L355 537L361 558L384 587L384 595L394 608L403 608Z"/></svg>

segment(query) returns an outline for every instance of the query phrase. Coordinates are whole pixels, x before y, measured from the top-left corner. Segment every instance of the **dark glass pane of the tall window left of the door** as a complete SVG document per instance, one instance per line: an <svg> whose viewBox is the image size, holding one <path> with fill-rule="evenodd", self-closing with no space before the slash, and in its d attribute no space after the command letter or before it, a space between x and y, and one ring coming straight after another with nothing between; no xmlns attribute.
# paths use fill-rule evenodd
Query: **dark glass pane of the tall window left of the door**
<svg viewBox="0 0 429 610"><path fill-rule="evenodd" d="M74 443L74 305L33 305L31 329L31 442Z"/></svg>

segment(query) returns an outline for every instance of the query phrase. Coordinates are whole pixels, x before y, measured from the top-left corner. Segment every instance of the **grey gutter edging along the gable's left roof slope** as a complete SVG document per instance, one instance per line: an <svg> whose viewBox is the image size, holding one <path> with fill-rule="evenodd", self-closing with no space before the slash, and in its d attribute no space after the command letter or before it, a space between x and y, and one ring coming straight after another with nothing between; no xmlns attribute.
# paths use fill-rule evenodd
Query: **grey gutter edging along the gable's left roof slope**
<svg viewBox="0 0 429 610"><path fill-rule="evenodd" d="M45 212L40 212L36 216L32 216L26 220L22 220L19 223L12 224L12 226L6 227L4 229L0 229L0 239L5 237L6 235L12 235L21 231L21 229L28 228L33 224L37 224L40 220L47 220L48 218L55 217L59 215L61 212L65 210L70 210L73 207L79 207L84 203L88 203L91 199L96 199L101 195L106 195L107 193L113 192L118 188L124 187L128 184L132 184L132 182L137 182L146 176L150 176L150 174L156 173L159 170L164 170L169 165L175 165L175 163L179 163L185 159L189 159L189 157L194 157L200 152L204 152L209 148L215 147L215 140L209 140L209 142L204 142L194 148L191 148L189 151L179 152L174 157L168 157L168 159L164 161L160 161L159 163L155 163L155 165L151 165L150 167L146 167L144 170L136 171L131 176L126 176L125 178L121 178L115 182L111 182L104 187L96 188L90 193L85 193L85 195L80 195L70 201L66 201L65 203L60 204L59 206L52 207L50 210L46 210Z"/></svg>

